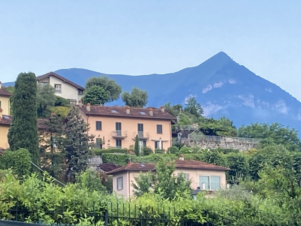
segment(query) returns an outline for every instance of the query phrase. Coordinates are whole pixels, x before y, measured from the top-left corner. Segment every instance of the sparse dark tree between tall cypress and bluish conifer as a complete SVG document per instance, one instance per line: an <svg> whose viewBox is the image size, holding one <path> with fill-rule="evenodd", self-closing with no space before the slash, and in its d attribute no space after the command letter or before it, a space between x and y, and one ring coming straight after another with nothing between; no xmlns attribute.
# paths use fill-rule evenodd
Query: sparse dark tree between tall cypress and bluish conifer
<svg viewBox="0 0 301 226"><path fill-rule="evenodd" d="M65 166L65 151L63 143L63 119L51 114L48 120L43 121L42 130L39 130L41 168L53 177L61 177Z"/></svg>

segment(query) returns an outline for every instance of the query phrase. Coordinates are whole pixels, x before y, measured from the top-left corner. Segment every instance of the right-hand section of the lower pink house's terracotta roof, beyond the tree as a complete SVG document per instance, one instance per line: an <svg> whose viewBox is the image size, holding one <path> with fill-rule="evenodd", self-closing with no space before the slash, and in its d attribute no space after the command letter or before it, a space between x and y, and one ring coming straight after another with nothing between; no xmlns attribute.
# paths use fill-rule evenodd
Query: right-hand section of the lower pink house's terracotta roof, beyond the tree
<svg viewBox="0 0 301 226"><path fill-rule="evenodd" d="M175 165L177 168L189 168L189 169L210 169L210 170L230 170L230 168L213 165L201 161L189 161L189 160L175 160Z"/></svg>

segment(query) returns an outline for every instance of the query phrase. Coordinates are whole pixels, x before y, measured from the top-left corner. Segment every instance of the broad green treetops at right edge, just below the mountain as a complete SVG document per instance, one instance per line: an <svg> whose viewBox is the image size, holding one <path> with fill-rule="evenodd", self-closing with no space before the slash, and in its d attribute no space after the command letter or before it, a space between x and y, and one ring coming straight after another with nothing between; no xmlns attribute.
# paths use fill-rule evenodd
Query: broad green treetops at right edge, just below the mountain
<svg viewBox="0 0 301 226"><path fill-rule="evenodd" d="M249 126L238 128L239 137L250 137L259 139L272 139L275 144L282 144L289 151L300 151L301 141L298 132L289 127L276 123L259 124L252 123Z"/></svg>

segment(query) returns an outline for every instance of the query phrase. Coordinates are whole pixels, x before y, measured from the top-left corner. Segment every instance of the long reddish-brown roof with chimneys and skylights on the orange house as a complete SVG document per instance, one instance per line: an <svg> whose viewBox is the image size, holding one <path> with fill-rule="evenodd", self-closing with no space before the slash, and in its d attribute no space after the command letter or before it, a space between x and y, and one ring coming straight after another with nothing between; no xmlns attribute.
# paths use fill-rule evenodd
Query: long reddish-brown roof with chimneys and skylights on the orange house
<svg viewBox="0 0 301 226"><path fill-rule="evenodd" d="M153 116L149 114L148 108L130 108L130 114L126 114L126 107L116 107L116 106L100 106L91 105L90 111L86 110L86 105L79 107L86 115L105 115L111 117L135 117L135 118L153 118L153 119L166 119L175 120L176 118L166 111L163 113L160 108L152 108Z"/></svg>

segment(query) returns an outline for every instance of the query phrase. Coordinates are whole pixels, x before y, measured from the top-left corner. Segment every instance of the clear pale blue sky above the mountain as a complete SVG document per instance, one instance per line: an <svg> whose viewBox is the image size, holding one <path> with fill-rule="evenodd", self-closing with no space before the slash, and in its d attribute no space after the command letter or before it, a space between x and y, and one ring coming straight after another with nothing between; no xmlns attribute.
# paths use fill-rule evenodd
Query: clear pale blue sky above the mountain
<svg viewBox="0 0 301 226"><path fill-rule="evenodd" d="M1 1L0 80L164 74L224 51L301 100L301 1ZM171 84L172 85L172 84Z"/></svg>

